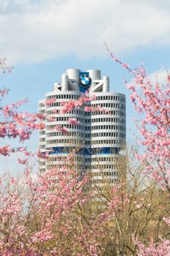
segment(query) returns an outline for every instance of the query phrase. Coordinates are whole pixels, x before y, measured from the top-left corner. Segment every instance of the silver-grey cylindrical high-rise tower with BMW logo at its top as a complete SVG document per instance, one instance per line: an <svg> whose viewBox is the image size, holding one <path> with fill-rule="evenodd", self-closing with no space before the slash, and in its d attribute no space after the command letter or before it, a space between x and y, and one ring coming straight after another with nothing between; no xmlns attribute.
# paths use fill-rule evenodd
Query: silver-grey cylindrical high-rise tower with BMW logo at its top
<svg viewBox="0 0 170 256"><path fill-rule="evenodd" d="M81 108L61 114L61 101L76 101L85 91L93 99ZM55 102L45 105L49 99ZM109 110L85 111L85 106L95 109L98 105ZM125 147L125 95L109 91L109 77L101 78L100 70L67 69L61 75L61 83L54 83L53 91L39 100L39 112L46 113L45 129L39 134L39 148L42 153L50 152L50 160L42 159L40 171L55 166L58 156L66 157L73 148L75 170L90 171L93 184L102 184L104 180L116 183L119 180L115 159L121 157ZM53 118L51 118L53 116ZM69 124L68 118L76 118L79 124ZM55 129L66 127L66 134Z"/></svg>

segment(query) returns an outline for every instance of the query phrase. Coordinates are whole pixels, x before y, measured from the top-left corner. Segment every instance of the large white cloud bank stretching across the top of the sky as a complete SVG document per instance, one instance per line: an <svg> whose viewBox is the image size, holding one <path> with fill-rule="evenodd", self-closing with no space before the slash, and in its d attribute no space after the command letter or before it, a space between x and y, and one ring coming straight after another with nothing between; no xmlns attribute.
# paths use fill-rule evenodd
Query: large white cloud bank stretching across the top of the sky
<svg viewBox="0 0 170 256"><path fill-rule="evenodd" d="M170 45L169 1L0 0L0 56L13 63Z"/></svg>

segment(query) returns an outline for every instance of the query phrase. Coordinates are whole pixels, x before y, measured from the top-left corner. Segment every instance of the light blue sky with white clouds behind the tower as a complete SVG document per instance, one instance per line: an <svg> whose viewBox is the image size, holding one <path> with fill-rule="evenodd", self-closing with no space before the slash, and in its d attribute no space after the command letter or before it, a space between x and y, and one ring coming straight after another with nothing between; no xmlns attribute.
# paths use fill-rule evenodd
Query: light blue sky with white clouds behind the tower
<svg viewBox="0 0 170 256"><path fill-rule="evenodd" d="M110 59L103 39L119 59L132 68L142 63L152 79L163 81L170 66L170 1L0 0L0 58L14 67L0 74L1 88L10 89L5 103L28 98L24 109L34 112L65 69L101 69L110 91L126 95L127 141L134 141L136 113L123 85L123 78L133 78ZM28 146L36 150L37 134ZM13 158L0 157L1 169L19 170Z"/></svg>

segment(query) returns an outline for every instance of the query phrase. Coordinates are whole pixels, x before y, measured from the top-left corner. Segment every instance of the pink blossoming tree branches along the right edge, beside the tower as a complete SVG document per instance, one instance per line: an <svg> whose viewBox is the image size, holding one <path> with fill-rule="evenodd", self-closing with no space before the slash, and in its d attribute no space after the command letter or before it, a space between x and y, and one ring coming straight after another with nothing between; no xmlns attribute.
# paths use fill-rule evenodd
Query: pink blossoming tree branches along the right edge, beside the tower
<svg viewBox="0 0 170 256"><path fill-rule="evenodd" d="M152 83L147 77L144 67L131 69L128 64L117 59L104 42L111 58L127 69L134 77L134 83L128 84L131 91L131 101L141 119L136 121L136 127L141 138L139 145L144 148L143 154L136 157L144 163L143 173L152 175L161 189L168 191L170 197L170 75L166 72L163 84ZM169 225L169 218L163 218ZM152 241L146 248L144 244L136 241L139 246L139 255L155 256L170 255L169 240L161 238L161 244Z"/></svg>

